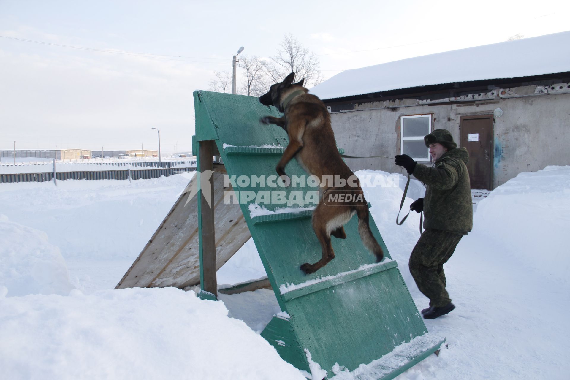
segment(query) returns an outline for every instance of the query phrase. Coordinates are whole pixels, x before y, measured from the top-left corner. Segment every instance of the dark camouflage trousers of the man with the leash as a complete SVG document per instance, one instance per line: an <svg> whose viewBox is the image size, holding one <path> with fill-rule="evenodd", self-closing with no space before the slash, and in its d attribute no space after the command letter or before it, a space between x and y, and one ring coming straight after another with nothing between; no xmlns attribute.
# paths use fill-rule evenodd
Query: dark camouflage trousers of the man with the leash
<svg viewBox="0 0 570 380"><path fill-rule="evenodd" d="M442 307L451 302L445 290L443 264L451 258L463 235L441 230L425 230L410 255L410 273L429 305Z"/></svg>

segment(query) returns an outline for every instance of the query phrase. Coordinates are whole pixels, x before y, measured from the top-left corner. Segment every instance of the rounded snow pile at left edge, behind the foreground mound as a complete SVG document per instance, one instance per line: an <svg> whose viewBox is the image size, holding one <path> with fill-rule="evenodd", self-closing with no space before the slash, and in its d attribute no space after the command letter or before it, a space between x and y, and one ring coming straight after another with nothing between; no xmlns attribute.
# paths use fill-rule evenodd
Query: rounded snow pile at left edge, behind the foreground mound
<svg viewBox="0 0 570 380"><path fill-rule="evenodd" d="M0 288L7 296L68 295L73 288L59 248L45 232L0 214Z"/></svg>

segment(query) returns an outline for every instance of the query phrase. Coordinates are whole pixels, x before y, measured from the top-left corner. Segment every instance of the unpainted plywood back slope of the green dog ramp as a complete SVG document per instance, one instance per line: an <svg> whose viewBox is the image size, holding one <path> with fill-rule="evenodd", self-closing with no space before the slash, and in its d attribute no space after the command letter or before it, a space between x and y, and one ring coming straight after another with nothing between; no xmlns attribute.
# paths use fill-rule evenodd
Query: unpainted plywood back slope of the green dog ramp
<svg viewBox="0 0 570 380"><path fill-rule="evenodd" d="M219 269L250 239L239 205L223 202L223 165L214 166L216 267ZM196 176L190 183L196 181ZM185 206L189 193L181 194L116 289L185 287L200 284L198 249L198 197Z"/></svg>

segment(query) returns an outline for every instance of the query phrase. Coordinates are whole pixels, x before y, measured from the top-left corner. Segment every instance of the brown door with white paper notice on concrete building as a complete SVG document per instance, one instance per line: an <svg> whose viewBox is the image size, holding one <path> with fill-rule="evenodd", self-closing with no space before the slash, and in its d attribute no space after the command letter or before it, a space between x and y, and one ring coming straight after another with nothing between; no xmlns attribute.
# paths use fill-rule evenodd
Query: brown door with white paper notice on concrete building
<svg viewBox="0 0 570 380"><path fill-rule="evenodd" d="M461 146L469 152L471 189L492 190L493 116L462 116Z"/></svg>

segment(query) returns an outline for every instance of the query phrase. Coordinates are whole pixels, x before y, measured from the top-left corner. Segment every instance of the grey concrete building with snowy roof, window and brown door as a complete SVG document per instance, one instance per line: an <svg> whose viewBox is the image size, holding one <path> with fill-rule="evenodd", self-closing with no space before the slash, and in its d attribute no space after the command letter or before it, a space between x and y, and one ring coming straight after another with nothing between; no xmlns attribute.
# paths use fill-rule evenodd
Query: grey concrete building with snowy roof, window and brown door
<svg viewBox="0 0 570 380"><path fill-rule="evenodd" d="M347 70L310 89L351 156L429 162L423 136L450 130L469 150L473 189L570 165L570 31ZM353 170L400 171L348 159Z"/></svg>

